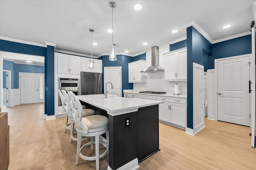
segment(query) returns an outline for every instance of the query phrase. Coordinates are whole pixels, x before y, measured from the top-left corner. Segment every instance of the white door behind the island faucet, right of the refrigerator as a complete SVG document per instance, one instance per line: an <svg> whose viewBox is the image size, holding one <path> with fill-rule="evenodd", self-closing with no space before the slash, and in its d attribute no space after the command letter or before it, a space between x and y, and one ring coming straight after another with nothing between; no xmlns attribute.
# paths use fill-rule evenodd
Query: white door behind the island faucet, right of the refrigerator
<svg viewBox="0 0 256 170"><path fill-rule="evenodd" d="M116 95L122 97L122 88L121 88L121 67L104 67L104 91L108 91L108 94ZM111 82L114 86L114 89L111 89Z"/></svg>

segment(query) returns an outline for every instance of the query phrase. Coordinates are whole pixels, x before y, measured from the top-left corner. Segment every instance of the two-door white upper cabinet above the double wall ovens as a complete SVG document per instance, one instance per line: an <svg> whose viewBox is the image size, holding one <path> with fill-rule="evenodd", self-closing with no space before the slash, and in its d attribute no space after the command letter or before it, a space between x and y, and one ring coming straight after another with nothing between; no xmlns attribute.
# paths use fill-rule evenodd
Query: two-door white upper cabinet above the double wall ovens
<svg viewBox="0 0 256 170"><path fill-rule="evenodd" d="M80 57L58 53L58 73L80 74Z"/></svg>

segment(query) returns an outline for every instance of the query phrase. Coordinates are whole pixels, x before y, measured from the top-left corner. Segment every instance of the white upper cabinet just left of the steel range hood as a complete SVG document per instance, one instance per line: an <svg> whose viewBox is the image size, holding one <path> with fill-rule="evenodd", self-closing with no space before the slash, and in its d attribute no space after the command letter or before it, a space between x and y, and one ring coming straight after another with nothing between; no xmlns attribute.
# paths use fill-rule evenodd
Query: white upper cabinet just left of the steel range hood
<svg viewBox="0 0 256 170"><path fill-rule="evenodd" d="M146 74L141 73L140 71L144 70L147 66L148 65L145 60L138 60L132 63L128 63L129 83L146 82Z"/></svg>

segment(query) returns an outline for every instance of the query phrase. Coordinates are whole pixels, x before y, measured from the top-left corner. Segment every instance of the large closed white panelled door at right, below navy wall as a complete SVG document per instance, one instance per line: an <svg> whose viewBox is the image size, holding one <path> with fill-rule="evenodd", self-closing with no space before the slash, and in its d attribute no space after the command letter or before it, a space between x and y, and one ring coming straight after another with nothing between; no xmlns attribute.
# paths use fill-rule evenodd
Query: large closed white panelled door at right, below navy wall
<svg viewBox="0 0 256 170"><path fill-rule="evenodd" d="M218 61L218 120L250 126L249 62L249 56Z"/></svg>

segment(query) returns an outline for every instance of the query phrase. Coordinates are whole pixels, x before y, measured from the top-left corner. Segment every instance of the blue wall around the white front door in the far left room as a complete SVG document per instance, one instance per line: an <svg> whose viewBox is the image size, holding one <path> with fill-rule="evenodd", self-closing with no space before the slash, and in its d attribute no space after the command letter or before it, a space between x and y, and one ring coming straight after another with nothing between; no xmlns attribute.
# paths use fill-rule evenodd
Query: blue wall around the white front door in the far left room
<svg viewBox="0 0 256 170"><path fill-rule="evenodd" d="M3 62L4 70L11 70L11 88L19 88L19 72L32 72L32 73L42 73L44 74L44 66L36 66L29 64L15 64L12 61L4 60Z"/></svg>

